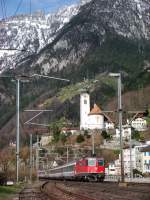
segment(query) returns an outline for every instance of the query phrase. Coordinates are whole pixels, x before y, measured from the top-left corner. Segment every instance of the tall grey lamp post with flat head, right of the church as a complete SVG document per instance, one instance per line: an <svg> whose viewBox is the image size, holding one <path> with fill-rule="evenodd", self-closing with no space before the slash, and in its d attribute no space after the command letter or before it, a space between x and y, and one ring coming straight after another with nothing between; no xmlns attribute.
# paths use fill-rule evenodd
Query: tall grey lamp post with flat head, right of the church
<svg viewBox="0 0 150 200"><path fill-rule="evenodd" d="M118 79L118 122L120 132L120 159L121 159L121 182L124 182L124 160L123 160L123 139L122 139L122 98L121 98L121 73L109 73L109 76Z"/></svg>

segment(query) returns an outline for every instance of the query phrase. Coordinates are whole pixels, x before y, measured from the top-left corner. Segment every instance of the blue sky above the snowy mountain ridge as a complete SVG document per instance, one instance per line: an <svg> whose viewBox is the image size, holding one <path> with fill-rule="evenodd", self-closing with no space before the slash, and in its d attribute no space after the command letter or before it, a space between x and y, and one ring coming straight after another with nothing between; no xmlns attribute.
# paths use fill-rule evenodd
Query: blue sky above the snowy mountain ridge
<svg viewBox="0 0 150 200"><path fill-rule="evenodd" d="M76 2L79 0L0 0L0 19L30 13L30 8L31 12L37 10L42 10L45 13L54 12L60 7Z"/></svg>

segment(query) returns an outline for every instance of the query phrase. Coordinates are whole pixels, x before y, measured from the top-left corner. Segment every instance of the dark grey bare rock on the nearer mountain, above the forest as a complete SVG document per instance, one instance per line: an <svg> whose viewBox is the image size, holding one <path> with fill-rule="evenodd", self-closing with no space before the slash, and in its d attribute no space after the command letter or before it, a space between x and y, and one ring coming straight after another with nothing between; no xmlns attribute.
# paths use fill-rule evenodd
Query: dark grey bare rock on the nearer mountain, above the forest
<svg viewBox="0 0 150 200"><path fill-rule="evenodd" d="M148 0L93 0L59 31L52 43L36 56L32 67L42 73L78 66L93 48L109 35L133 41L150 39L150 2Z"/></svg>

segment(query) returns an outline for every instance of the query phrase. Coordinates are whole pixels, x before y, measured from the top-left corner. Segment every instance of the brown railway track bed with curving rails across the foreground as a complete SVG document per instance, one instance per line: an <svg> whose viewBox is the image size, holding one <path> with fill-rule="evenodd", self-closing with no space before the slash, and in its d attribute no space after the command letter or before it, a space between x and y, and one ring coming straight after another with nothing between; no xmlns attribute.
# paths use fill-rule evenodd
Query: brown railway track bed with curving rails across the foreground
<svg viewBox="0 0 150 200"><path fill-rule="evenodd" d="M19 193L19 200L149 200L149 185L47 181Z"/></svg>

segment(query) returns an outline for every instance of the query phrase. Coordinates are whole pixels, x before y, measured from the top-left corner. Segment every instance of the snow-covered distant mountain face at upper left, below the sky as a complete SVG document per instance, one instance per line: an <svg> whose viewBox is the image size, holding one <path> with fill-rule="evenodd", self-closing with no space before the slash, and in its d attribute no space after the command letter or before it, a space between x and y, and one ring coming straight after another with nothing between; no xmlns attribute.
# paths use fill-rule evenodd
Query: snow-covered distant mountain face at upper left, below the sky
<svg viewBox="0 0 150 200"><path fill-rule="evenodd" d="M56 13L45 15L36 12L30 15L18 15L0 22L0 48L24 49L18 51L0 51L0 72L15 68L16 63L26 56L39 52L51 43L58 31L75 16L81 5L89 0L81 1L79 5L65 6Z"/></svg>

